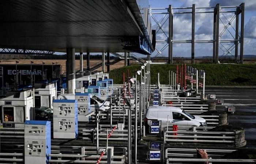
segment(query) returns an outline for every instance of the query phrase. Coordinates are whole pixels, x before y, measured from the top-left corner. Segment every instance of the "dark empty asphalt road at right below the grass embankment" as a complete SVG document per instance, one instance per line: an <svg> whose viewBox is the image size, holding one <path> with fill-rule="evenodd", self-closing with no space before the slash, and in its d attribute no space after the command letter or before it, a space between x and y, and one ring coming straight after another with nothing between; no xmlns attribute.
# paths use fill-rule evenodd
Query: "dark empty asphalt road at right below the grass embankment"
<svg viewBox="0 0 256 164"><path fill-rule="evenodd" d="M225 106L235 106L236 112L228 115L229 124L242 126L245 129L246 147L256 148L256 89L249 88L206 88L205 95L215 94L216 98L223 98L223 105L216 105L217 110L224 110Z"/></svg>

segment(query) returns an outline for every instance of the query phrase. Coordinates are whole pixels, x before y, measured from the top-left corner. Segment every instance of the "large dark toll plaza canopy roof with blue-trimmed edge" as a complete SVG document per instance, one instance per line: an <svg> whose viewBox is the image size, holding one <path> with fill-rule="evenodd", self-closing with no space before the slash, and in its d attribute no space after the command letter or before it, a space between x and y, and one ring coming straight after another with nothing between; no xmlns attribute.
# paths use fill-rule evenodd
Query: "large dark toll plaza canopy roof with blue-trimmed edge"
<svg viewBox="0 0 256 164"><path fill-rule="evenodd" d="M147 8L136 0L2 0L0 47L150 54Z"/></svg>

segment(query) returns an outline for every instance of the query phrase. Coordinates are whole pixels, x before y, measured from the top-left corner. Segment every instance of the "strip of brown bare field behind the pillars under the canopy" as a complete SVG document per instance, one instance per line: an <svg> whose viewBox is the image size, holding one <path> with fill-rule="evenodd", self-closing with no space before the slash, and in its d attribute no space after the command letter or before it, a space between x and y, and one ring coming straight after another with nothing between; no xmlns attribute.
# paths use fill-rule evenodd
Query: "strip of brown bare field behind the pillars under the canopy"
<svg viewBox="0 0 256 164"><path fill-rule="evenodd" d="M1 60L1 63L0 65L5 65L5 64L15 64L15 61L16 60ZM22 59L22 60L18 60L19 64L29 64L30 65L30 62L33 61L34 64L42 64L42 62L44 62L46 65L52 65L52 62L55 63L57 62L57 64L60 64L61 67L62 67L62 73L65 73L66 71L66 60L63 60L63 59L50 59L50 60L46 60L46 59L37 59L37 60L31 60L31 59ZM90 60L90 66L94 66L96 64L98 64L99 62L101 62L102 60L100 59L91 59ZM132 61L131 61L131 64L132 64ZM87 61L86 60L83 60L83 66L84 68L86 68L87 66ZM117 68L120 68L120 67L123 67L124 66L124 60L120 61L120 62L117 62L116 64L114 65L110 65L110 70L113 70L113 69L117 69ZM76 60L76 69L79 69L80 67L80 61L79 60ZM99 67L97 69L98 71L101 71L102 70L102 67ZM105 71L107 71L107 67L105 66Z"/></svg>

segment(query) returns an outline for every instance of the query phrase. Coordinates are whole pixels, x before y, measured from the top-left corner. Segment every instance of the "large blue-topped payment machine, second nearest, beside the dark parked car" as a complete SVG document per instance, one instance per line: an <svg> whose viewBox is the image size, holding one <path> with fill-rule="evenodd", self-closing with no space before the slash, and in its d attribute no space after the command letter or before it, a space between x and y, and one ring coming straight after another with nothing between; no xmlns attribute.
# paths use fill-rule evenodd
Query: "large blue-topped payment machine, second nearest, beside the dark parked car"
<svg viewBox="0 0 256 164"><path fill-rule="evenodd" d="M75 99L53 101L53 138L78 137L78 110Z"/></svg>

